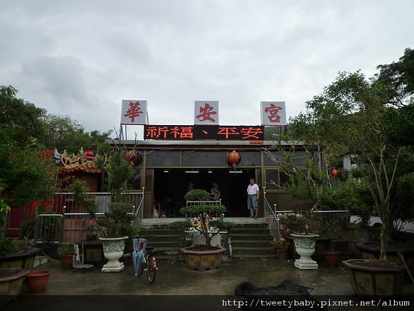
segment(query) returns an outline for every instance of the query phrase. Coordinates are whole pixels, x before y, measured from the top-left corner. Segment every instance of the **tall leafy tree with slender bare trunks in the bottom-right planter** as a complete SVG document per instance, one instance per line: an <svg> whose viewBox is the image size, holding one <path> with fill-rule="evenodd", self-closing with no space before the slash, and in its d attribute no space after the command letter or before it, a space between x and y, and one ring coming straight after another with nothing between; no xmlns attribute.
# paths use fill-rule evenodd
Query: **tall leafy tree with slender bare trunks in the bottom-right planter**
<svg viewBox="0 0 414 311"><path fill-rule="evenodd" d="M382 259L398 215L397 180L404 174L399 167L404 147L392 140L401 131L387 131L391 124L386 120L404 122L408 117L408 108L395 111L393 86L384 83L384 79L367 79L359 71L339 73L335 82L306 102L306 112L292 124L293 135L305 144L322 144L333 153L352 156L382 219Z"/></svg>

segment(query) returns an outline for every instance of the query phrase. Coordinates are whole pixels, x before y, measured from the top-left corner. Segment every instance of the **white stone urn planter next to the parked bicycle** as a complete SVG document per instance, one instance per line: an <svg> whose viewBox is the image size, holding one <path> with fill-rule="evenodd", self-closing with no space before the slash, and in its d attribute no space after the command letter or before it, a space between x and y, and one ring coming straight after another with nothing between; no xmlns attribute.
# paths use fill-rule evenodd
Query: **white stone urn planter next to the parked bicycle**
<svg viewBox="0 0 414 311"><path fill-rule="evenodd" d="M121 272L124 270L124 263L119 258L124 254L125 241L128 236L120 238L99 238L102 241L103 256L108 259L108 263L103 265L102 272Z"/></svg>

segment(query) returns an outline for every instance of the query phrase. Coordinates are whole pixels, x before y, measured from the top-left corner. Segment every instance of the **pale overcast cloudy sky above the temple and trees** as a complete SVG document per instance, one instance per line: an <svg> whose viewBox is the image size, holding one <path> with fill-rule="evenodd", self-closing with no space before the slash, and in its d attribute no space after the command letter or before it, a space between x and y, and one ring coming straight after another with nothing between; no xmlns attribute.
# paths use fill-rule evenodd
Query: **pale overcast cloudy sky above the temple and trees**
<svg viewBox="0 0 414 311"><path fill-rule="evenodd" d="M261 101L294 116L339 71L397 61L413 15L412 0L0 0L0 84L86 131L119 129L123 99L148 100L150 124L218 100L220 124L257 125Z"/></svg>

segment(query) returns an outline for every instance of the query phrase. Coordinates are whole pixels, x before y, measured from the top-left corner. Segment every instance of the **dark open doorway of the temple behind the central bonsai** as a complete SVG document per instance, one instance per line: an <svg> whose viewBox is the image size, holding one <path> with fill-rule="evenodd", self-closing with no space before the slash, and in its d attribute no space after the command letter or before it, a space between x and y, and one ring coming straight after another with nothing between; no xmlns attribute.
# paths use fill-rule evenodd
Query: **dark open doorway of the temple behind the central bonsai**
<svg viewBox="0 0 414 311"><path fill-rule="evenodd" d="M217 182L226 217L248 216L246 189L255 169L155 169L154 199L167 217L182 217L179 209L186 205L184 196L190 184L193 189L211 192Z"/></svg>

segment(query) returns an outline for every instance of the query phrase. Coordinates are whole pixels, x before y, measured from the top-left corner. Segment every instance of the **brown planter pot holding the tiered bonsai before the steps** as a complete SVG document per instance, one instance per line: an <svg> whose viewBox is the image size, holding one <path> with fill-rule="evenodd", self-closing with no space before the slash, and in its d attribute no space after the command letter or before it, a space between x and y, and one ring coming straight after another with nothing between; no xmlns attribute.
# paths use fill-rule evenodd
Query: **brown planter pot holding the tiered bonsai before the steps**
<svg viewBox="0 0 414 311"><path fill-rule="evenodd" d="M226 252L224 247L206 251L194 251L188 248L190 247L181 248L181 252L184 254L184 260L186 261L188 269L193 270L206 270L219 267L223 253Z"/></svg>

